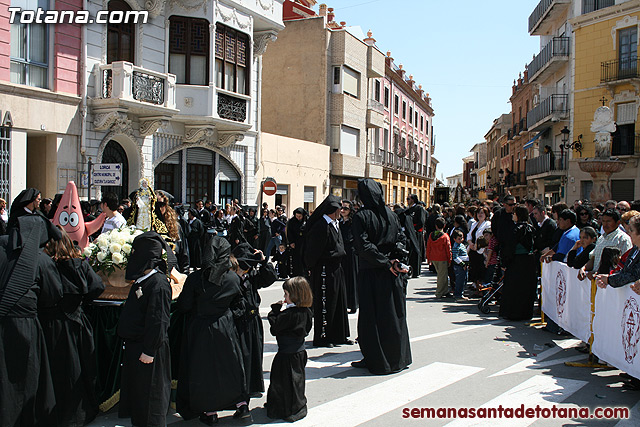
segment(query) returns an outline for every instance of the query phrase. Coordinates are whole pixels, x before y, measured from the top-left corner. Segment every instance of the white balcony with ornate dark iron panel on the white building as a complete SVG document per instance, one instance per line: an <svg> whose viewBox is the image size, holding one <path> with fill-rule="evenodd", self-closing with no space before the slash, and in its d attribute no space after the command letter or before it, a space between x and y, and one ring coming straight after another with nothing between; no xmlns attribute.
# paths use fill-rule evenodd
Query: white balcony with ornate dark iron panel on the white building
<svg viewBox="0 0 640 427"><path fill-rule="evenodd" d="M102 99L176 107L176 77L173 74L157 73L122 61L100 65L99 70Z"/></svg>

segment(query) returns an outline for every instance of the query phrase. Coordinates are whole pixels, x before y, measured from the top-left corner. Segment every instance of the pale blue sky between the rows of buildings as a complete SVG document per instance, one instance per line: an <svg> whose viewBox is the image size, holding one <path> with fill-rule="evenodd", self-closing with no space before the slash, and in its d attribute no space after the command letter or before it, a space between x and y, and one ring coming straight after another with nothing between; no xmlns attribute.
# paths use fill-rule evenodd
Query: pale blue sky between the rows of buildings
<svg viewBox="0 0 640 427"><path fill-rule="evenodd" d="M322 3L319 0L319 3ZM511 111L513 80L540 51L528 33L539 0L340 0L335 20L373 32L432 98L437 177L462 172L462 158ZM452 7L455 7L453 9ZM316 5L315 10L318 7Z"/></svg>

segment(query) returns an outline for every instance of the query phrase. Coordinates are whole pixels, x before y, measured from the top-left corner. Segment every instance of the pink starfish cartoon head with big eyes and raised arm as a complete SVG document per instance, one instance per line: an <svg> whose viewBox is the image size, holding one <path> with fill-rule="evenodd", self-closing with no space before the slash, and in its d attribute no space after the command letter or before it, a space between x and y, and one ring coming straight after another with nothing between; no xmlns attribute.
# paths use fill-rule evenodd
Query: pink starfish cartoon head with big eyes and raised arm
<svg viewBox="0 0 640 427"><path fill-rule="evenodd" d="M78 189L73 181L69 181L53 216L53 223L64 228L71 240L84 249L89 245L89 236L102 228L105 218L106 215L102 213L95 220L84 222Z"/></svg>

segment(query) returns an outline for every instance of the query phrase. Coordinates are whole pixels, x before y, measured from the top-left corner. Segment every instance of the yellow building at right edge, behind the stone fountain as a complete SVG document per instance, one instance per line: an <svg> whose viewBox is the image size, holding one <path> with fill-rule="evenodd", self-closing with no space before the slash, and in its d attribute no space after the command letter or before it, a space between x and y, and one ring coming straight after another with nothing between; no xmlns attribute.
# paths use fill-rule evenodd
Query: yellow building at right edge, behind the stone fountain
<svg viewBox="0 0 640 427"><path fill-rule="evenodd" d="M584 13L569 21L574 32L573 126L569 143L580 140L582 154L573 151L569 164L567 200L589 198L592 178L582 172L581 158L594 157L595 134L591 122L596 109L611 108L617 130L611 155L627 162L622 172L611 176L611 197L615 200L640 198L640 137L636 122L640 105L638 68L638 25L640 0L630 0ZM581 136L581 138L579 138Z"/></svg>

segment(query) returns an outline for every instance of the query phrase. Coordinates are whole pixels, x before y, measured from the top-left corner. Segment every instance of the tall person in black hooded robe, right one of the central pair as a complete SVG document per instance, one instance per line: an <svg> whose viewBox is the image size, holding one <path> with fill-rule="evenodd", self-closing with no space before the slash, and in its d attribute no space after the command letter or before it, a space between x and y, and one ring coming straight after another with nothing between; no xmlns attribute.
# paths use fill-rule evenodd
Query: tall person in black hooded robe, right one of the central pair
<svg viewBox="0 0 640 427"><path fill-rule="evenodd" d="M373 374L390 374L411 364L407 270L396 262L405 236L397 217L384 204L380 183L359 180L358 195L364 208L353 219L353 236L360 262L358 344L364 357L352 365Z"/></svg>

